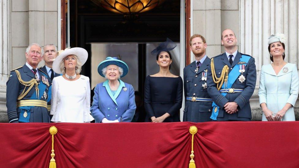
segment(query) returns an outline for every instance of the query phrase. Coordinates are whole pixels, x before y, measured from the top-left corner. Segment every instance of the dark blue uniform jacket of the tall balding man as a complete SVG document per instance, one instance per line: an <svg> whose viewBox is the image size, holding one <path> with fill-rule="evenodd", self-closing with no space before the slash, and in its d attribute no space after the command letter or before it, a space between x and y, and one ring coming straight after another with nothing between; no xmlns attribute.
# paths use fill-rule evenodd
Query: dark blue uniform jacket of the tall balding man
<svg viewBox="0 0 299 168"><path fill-rule="evenodd" d="M222 68L225 65L229 66L229 73L234 66L239 66L238 63L240 62L240 58L242 58L242 55L246 55L246 54L241 54L237 52L237 55L234 58L232 65L230 65L229 59L227 58L225 52L223 54L214 57L214 67L215 67L216 76L218 78L221 76ZM249 99L253 94L255 88L255 82L256 82L255 60L253 57L249 59L247 65L245 66L245 72L243 73L243 76L245 77L245 81L243 83L239 81L238 79L239 76L237 77L237 79L235 80L231 88L244 89L244 91L237 92L237 93L227 93L224 97L217 90L216 84L213 81L211 66L209 66L208 68L208 78L207 78L208 93L210 97L213 99L213 101L220 108L217 121L228 121L228 120L250 121L251 119L251 108L249 104ZM233 114L226 113L223 106L227 102L236 102L238 104L239 111Z"/></svg>

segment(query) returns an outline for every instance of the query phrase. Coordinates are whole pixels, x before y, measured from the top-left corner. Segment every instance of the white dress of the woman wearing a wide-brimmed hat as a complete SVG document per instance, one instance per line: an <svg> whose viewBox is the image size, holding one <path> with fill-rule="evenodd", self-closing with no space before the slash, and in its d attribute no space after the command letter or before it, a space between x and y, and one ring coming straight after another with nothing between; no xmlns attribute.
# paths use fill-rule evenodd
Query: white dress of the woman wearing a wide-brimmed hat
<svg viewBox="0 0 299 168"><path fill-rule="evenodd" d="M53 78L51 95L51 115L53 122L90 122L89 77L81 75L74 81L62 76Z"/></svg>

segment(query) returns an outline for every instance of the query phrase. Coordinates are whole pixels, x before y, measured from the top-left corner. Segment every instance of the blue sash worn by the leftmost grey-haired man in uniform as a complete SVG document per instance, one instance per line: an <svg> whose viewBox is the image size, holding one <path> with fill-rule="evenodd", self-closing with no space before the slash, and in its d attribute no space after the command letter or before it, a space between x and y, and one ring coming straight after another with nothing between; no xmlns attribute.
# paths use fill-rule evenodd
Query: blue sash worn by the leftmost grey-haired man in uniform
<svg viewBox="0 0 299 168"><path fill-rule="evenodd" d="M40 82L40 84L38 85L39 88L39 100L41 99L41 96L44 96L44 91L47 88L47 85L44 84L43 82ZM35 88L33 87L32 89L35 90ZM31 95L31 97L29 98L29 100L36 100L36 92L34 91L33 94ZM20 122L29 122L30 119L30 114L33 110L34 106L21 106L20 108L20 117L19 117L19 121ZM24 117L24 113L27 113L27 117Z"/></svg>

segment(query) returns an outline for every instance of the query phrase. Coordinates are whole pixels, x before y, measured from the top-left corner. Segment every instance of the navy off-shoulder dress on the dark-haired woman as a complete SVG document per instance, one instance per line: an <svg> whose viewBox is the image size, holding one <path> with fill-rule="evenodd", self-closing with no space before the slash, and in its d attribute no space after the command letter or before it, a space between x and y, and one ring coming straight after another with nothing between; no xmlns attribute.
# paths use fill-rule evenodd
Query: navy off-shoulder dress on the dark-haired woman
<svg viewBox="0 0 299 168"><path fill-rule="evenodd" d="M144 86L144 107L146 122L150 118L161 117L168 113L170 117L163 122L180 121L179 113L183 101L183 80L181 77L147 76Z"/></svg>

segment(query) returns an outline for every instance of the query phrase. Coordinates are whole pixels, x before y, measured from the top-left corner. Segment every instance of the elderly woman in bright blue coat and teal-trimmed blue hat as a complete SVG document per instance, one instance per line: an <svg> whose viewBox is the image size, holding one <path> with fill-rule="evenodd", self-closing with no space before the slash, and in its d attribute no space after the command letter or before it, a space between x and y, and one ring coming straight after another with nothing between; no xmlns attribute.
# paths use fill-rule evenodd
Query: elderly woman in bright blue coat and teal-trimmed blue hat
<svg viewBox="0 0 299 168"><path fill-rule="evenodd" d="M134 88L120 80L128 70L128 65L116 57L107 57L99 64L98 73L107 80L94 89L90 111L96 122L131 122L136 110Z"/></svg>

